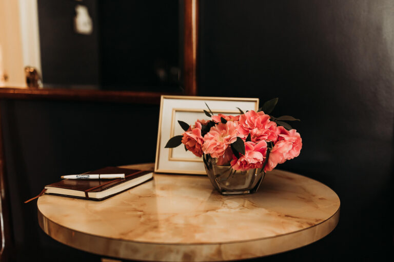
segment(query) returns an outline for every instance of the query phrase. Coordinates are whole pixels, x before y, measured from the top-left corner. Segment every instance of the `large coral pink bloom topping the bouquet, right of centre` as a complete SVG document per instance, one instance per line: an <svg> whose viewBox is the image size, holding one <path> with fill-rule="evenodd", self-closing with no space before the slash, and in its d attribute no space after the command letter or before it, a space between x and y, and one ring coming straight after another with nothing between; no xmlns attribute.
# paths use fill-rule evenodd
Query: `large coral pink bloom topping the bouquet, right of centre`
<svg viewBox="0 0 394 262"><path fill-rule="evenodd" d="M238 132L243 138L246 138L250 133L253 142L275 141L278 139L277 124L269 121L269 118L264 112L253 110L246 112L240 117Z"/></svg>

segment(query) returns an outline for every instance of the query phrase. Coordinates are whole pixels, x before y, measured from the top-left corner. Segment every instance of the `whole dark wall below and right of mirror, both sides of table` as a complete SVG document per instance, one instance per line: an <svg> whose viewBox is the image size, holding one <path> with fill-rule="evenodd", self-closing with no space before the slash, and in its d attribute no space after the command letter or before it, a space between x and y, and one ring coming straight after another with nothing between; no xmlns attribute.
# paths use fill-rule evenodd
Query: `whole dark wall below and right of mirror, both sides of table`
<svg viewBox="0 0 394 262"><path fill-rule="evenodd" d="M341 199L340 222L332 233L263 259L388 260L393 247L394 3L200 3L200 95L279 97L274 115L300 118L294 127L303 138L300 157L280 168L323 182ZM154 161L159 107L14 101L1 108L17 246L38 250L38 257L50 251L63 252L65 260L97 259L52 241L34 221L34 203L19 203L59 173ZM147 144L135 141L141 136L139 123L146 126Z"/></svg>

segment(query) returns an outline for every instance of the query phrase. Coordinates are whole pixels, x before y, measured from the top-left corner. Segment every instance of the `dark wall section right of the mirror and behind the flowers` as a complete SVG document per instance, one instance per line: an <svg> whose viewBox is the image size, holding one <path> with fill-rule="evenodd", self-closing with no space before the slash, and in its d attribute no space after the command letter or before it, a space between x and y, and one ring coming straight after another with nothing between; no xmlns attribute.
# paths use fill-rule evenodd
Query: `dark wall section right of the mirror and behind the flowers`
<svg viewBox="0 0 394 262"><path fill-rule="evenodd" d="M394 2L201 1L200 11L199 94L279 97L273 114L300 118L303 138L279 168L341 199L330 235L270 259L392 251Z"/></svg>

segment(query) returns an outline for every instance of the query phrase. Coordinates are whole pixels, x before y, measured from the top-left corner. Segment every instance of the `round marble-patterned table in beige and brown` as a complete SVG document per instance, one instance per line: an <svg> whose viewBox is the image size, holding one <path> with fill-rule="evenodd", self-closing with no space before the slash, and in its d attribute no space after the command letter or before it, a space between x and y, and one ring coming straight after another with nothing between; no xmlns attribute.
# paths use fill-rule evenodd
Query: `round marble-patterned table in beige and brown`
<svg viewBox="0 0 394 262"><path fill-rule="evenodd" d="M125 166L152 170L153 164ZM273 170L258 192L221 195L205 176L155 173L101 202L43 195L38 222L52 238L105 256L146 261L246 259L308 245L338 224L324 184Z"/></svg>

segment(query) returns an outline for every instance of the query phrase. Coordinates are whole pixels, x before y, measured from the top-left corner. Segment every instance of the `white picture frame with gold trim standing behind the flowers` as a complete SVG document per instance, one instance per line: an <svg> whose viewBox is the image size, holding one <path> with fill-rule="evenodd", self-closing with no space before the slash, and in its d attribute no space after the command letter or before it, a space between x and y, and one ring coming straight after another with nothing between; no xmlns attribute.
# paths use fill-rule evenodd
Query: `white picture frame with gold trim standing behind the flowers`
<svg viewBox="0 0 394 262"><path fill-rule="evenodd" d="M259 98L162 95L154 172L206 174L203 159L186 151L184 146L165 148L170 138L184 133L184 130L178 124L178 120L190 125L193 125L197 119L210 120L203 111L208 111L205 103L208 104L215 115L219 113L240 115L241 113L237 107L244 112L248 110L258 111L259 108Z"/></svg>

